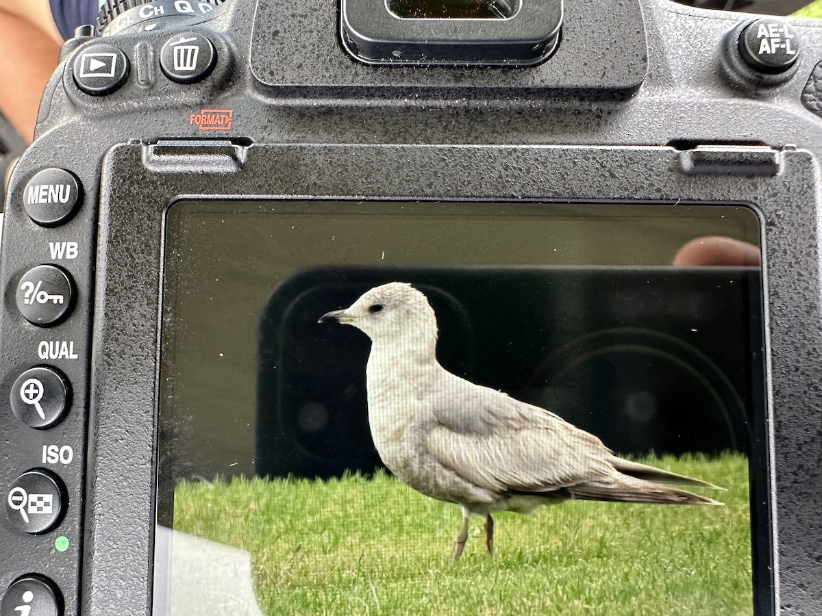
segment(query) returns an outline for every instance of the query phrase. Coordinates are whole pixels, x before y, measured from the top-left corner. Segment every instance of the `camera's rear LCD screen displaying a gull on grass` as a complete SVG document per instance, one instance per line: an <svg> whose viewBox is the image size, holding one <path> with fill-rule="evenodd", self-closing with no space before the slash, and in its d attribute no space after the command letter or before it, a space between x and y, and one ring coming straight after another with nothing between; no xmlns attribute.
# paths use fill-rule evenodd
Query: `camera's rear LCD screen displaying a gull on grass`
<svg viewBox="0 0 822 616"><path fill-rule="evenodd" d="M155 614L754 613L759 252L742 205L173 204Z"/></svg>

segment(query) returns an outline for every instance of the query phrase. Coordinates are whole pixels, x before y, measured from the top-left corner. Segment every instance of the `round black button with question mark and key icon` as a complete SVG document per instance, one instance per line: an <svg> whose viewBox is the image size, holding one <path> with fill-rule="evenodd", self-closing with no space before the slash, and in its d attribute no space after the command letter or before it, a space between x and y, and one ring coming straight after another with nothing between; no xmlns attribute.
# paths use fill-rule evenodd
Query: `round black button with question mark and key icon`
<svg viewBox="0 0 822 616"><path fill-rule="evenodd" d="M30 323L48 327L68 315L75 295L74 281L62 268L38 265L17 284L17 308Z"/></svg>

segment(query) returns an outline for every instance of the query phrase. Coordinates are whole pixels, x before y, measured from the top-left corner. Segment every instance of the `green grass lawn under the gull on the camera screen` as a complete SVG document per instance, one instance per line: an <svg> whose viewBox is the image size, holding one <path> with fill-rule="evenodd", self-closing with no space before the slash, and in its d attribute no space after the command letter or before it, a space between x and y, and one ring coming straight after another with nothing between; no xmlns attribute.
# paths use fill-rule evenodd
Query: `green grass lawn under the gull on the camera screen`
<svg viewBox="0 0 822 616"><path fill-rule="evenodd" d="M473 518L450 561L454 504L373 480L183 483L174 528L252 554L265 614L751 614L746 457L643 462L722 485L725 507L566 502Z"/></svg>

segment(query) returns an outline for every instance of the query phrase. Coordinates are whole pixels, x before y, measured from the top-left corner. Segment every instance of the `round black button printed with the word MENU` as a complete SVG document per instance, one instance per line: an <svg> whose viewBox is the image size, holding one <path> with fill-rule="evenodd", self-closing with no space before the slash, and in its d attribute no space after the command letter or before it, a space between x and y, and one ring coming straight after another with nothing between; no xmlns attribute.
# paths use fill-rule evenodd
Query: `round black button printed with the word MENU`
<svg viewBox="0 0 822 616"><path fill-rule="evenodd" d="M73 173L65 169L43 169L25 185L25 213L43 227L65 223L80 205L81 188Z"/></svg>

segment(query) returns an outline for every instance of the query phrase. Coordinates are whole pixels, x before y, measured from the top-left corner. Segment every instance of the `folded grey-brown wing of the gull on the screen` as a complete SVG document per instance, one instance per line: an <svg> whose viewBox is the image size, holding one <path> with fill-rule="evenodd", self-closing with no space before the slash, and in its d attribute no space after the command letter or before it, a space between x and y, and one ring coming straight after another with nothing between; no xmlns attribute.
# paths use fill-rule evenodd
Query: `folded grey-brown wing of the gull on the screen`
<svg viewBox="0 0 822 616"><path fill-rule="evenodd" d="M430 402L428 452L486 490L547 493L614 474L593 434L505 393L448 375Z"/></svg>

